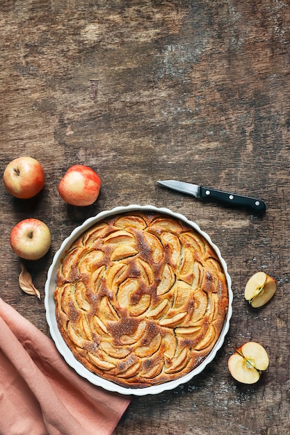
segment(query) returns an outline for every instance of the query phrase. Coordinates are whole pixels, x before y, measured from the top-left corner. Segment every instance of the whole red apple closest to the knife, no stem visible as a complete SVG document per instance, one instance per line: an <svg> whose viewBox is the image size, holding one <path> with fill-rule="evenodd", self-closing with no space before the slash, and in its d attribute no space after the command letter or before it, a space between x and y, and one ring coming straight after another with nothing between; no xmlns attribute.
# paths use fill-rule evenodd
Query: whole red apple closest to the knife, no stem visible
<svg viewBox="0 0 290 435"><path fill-rule="evenodd" d="M72 206L90 206L99 196L101 179L86 165L71 166L58 184L58 193Z"/></svg>

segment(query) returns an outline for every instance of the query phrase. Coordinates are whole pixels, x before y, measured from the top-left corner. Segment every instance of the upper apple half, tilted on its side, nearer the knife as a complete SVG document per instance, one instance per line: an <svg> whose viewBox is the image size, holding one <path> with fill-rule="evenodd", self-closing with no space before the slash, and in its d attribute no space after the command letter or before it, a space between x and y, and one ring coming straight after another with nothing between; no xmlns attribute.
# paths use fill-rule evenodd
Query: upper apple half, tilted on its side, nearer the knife
<svg viewBox="0 0 290 435"><path fill-rule="evenodd" d="M253 308L265 305L277 290L277 282L265 272L257 272L245 285L245 299Z"/></svg>

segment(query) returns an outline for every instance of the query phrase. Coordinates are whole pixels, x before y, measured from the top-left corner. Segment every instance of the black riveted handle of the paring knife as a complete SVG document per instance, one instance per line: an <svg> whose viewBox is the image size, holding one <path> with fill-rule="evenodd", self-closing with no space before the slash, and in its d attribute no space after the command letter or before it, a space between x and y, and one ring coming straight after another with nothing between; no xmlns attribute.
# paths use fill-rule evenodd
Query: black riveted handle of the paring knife
<svg viewBox="0 0 290 435"><path fill-rule="evenodd" d="M266 204L261 199L223 192L223 190L204 188L203 186L200 186L200 199L219 201L229 206L250 207L259 212L266 211Z"/></svg>

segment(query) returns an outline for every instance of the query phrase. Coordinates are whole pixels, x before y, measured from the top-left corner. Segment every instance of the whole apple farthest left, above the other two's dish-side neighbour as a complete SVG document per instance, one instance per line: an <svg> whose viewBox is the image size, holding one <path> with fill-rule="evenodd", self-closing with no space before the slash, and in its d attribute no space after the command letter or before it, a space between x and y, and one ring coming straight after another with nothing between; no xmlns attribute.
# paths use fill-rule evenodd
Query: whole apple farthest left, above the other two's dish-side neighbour
<svg viewBox="0 0 290 435"><path fill-rule="evenodd" d="M37 195L45 186L45 172L35 158L18 157L6 166L3 183L14 197L29 199Z"/></svg>

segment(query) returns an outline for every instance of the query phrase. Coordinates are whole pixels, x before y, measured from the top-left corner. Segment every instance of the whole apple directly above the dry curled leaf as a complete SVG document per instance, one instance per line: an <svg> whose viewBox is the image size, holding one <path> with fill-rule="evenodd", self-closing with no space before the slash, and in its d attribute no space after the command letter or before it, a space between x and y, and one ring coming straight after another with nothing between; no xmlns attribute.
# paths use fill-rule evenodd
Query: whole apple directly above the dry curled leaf
<svg viewBox="0 0 290 435"><path fill-rule="evenodd" d="M10 246L25 260L38 260L47 254L51 245L49 227L41 220L29 217L18 222L10 232Z"/></svg>

